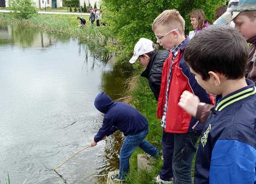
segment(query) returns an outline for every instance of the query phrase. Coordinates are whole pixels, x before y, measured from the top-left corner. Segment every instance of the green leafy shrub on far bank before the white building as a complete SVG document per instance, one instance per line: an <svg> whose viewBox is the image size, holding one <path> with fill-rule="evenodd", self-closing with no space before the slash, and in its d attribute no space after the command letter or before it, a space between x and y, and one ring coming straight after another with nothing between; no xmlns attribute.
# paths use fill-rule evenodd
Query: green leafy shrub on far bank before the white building
<svg viewBox="0 0 256 184"><path fill-rule="evenodd" d="M18 18L28 19L37 14L35 3L32 0L12 0L12 7Z"/></svg>

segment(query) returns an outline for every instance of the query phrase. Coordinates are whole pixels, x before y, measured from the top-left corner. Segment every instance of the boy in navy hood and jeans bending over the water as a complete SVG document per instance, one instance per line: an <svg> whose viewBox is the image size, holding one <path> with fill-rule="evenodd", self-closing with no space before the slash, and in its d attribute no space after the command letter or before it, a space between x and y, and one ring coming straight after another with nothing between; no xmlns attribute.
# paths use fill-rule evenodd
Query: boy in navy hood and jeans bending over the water
<svg viewBox="0 0 256 184"><path fill-rule="evenodd" d="M158 155L157 148L145 140L148 134L148 122L137 109L122 102L113 102L105 92L97 95L94 106L105 116L102 126L91 142L91 146L95 146L100 140L104 140L106 136L111 135L116 130L120 130L125 136L120 150L119 174L112 175L112 180L124 180L129 172L129 159L137 147L151 156Z"/></svg>

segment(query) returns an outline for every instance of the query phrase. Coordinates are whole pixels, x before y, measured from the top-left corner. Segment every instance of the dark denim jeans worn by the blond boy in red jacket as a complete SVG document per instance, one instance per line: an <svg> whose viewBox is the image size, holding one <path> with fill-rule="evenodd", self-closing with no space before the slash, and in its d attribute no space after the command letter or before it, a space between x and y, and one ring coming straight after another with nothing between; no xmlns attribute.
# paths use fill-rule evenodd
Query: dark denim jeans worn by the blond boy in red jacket
<svg viewBox="0 0 256 184"><path fill-rule="evenodd" d="M160 178L174 184L192 184L192 160L197 150L201 131L191 133L167 133L163 131L163 167Z"/></svg>

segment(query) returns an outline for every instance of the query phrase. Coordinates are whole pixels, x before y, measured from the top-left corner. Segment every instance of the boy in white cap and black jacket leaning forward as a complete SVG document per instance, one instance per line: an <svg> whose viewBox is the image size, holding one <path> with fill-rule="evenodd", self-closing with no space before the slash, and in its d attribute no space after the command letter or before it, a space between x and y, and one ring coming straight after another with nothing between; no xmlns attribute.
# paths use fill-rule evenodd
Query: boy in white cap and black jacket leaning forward
<svg viewBox="0 0 256 184"><path fill-rule="evenodd" d="M151 40L140 38L134 46L134 56L129 60L130 63L135 63L139 59L146 67L141 76L147 78L156 100L160 92L163 63L168 56L169 51L158 51Z"/></svg>

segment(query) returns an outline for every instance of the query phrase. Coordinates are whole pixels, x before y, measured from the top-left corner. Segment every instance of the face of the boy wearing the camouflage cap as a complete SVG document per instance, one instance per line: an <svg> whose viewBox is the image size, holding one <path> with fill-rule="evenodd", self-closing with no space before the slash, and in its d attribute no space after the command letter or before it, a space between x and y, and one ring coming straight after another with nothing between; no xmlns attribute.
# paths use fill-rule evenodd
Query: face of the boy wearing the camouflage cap
<svg viewBox="0 0 256 184"><path fill-rule="evenodd" d="M256 18L252 21L246 15L239 14L233 21L235 28L244 36L245 40L256 35Z"/></svg>

